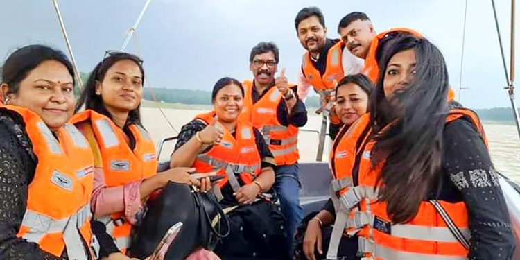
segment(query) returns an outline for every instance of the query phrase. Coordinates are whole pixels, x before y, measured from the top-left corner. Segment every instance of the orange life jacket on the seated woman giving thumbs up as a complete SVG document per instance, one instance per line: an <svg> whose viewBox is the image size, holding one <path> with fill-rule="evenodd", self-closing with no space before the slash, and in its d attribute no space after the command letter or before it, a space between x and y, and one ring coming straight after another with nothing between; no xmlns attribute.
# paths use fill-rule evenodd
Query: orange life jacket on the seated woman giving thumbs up
<svg viewBox="0 0 520 260"><path fill-rule="evenodd" d="M199 114L195 119L209 125L214 123L215 114L214 111ZM252 123L243 120L237 121L235 137L226 128L221 128L224 136L220 143L212 146L206 153L198 155L193 162L193 167L197 169L198 173L217 171L217 175L225 176L219 182L219 186L224 187L229 182L232 189L236 191L240 188L236 175L239 175L244 184L252 183L260 173L261 158Z"/></svg>

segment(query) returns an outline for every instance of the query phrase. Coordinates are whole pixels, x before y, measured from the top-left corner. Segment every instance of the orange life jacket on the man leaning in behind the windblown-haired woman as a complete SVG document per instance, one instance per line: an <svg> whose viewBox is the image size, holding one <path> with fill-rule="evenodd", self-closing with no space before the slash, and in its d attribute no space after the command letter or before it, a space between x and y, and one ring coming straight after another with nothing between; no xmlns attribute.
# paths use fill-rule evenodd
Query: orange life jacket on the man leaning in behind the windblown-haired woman
<svg viewBox="0 0 520 260"><path fill-rule="evenodd" d="M383 33L379 33L374 37L372 42L370 43L370 47L368 49L367 58L365 58L365 65L363 66L363 74L365 74L370 80L372 80L373 83L377 82L377 77L379 76L379 65L377 64L376 60L376 52L377 48L379 47L379 42L386 36L388 33L392 32L406 32L410 33L411 35L414 35L415 37L423 37L420 33L417 31L413 31L409 28L392 28L388 31L384 31ZM453 92L453 89L449 89L448 92L448 100L451 101L455 98L455 92Z"/></svg>

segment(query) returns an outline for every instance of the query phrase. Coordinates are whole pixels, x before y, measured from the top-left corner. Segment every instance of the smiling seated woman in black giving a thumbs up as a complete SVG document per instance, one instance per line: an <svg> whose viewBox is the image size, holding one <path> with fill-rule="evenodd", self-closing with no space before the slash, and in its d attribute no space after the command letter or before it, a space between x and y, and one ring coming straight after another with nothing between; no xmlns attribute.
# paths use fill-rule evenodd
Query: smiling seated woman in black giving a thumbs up
<svg viewBox="0 0 520 260"><path fill-rule="evenodd" d="M284 217L262 196L275 183L274 159L259 130L239 119L243 98L238 80L220 78L212 92L214 110L182 126L171 166L192 166L199 173L217 171L223 176L217 185L230 233L215 249L220 258L285 259L280 257L288 247Z"/></svg>

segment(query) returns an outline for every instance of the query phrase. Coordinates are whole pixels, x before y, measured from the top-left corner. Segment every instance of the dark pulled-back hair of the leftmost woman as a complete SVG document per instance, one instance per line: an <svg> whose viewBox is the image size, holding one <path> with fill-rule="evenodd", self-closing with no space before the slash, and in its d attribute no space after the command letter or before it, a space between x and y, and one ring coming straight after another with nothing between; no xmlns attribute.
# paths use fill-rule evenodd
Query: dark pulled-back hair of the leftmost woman
<svg viewBox="0 0 520 260"><path fill-rule="evenodd" d="M18 93L20 82L27 77L29 72L47 60L55 60L67 67L73 83L76 83L74 80L74 69L67 55L49 46L34 44L17 49L9 55L3 64L1 83L8 85L8 93L5 94Z"/></svg>

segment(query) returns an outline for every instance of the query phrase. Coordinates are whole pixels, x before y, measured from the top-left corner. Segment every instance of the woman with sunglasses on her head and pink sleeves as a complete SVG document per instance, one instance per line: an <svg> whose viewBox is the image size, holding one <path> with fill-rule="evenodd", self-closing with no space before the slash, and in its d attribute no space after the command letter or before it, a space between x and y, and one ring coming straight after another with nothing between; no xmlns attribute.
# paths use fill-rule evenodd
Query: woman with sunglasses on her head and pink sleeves
<svg viewBox="0 0 520 260"><path fill-rule="evenodd" d="M132 225L142 216L148 196L169 181L210 188L192 168L157 173L155 145L141 124L144 69L141 58L111 52L94 68L71 122L85 135L94 153L94 217L107 225L118 248L130 248Z"/></svg>

